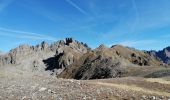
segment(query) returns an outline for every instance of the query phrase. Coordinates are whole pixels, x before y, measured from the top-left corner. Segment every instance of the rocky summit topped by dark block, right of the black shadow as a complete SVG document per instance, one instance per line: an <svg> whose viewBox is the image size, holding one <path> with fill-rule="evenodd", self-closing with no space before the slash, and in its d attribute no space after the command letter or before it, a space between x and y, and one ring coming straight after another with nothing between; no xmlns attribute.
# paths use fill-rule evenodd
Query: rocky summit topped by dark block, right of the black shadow
<svg viewBox="0 0 170 100"><path fill-rule="evenodd" d="M61 46L56 50L54 63L50 68L51 70L62 69L64 70L69 65L73 64L83 54L85 54L90 48L85 46L83 43L79 43L73 39L66 39L65 45Z"/></svg>

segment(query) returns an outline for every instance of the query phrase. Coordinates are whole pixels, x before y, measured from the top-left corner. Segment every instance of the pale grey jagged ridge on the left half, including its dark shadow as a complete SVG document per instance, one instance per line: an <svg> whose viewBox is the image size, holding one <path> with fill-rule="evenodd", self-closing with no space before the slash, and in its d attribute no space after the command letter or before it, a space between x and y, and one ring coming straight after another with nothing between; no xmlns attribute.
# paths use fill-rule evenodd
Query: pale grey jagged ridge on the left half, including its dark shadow
<svg viewBox="0 0 170 100"><path fill-rule="evenodd" d="M21 45L5 55L0 55L0 66L16 66L22 70L39 68L44 71L64 69L88 51L88 47L72 38L49 45L42 42L36 46Z"/></svg>

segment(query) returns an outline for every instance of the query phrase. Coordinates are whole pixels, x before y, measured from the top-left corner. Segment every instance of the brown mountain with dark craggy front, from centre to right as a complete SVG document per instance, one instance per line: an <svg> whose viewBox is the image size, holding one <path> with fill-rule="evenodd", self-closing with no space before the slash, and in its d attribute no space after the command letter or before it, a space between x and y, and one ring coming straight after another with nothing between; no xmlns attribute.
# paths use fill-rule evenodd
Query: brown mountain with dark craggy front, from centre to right
<svg viewBox="0 0 170 100"><path fill-rule="evenodd" d="M101 45L85 53L58 77L74 79L114 78L128 75L128 69L133 67L160 65L163 65L160 60L150 56L145 51L121 45L115 45L111 48Z"/></svg>

